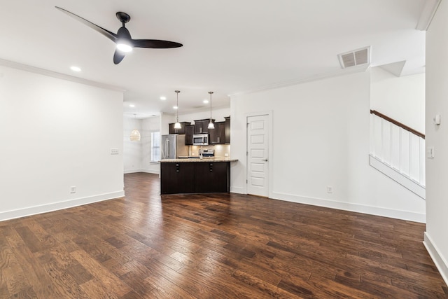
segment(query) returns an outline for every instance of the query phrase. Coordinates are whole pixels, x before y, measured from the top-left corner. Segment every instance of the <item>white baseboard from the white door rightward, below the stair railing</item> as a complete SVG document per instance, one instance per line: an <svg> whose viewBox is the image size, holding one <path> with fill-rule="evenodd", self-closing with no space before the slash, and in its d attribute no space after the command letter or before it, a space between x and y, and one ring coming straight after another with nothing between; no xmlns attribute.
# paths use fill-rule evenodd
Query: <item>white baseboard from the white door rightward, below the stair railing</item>
<svg viewBox="0 0 448 299"><path fill-rule="evenodd" d="M300 204L311 204L318 207L327 207L331 209L341 209L344 211L354 211L357 213L370 214L376 216L384 216L389 218L397 218L407 221L426 223L426 214L414 213L411 211L402 211L395 209L386 209L381 207L372 207L364 204L353 204L351 202L339 202L335 200L327 200L316 197L303 197L287 193L273 192L274 200L286 200L288 202L297 202Z"/></svg>

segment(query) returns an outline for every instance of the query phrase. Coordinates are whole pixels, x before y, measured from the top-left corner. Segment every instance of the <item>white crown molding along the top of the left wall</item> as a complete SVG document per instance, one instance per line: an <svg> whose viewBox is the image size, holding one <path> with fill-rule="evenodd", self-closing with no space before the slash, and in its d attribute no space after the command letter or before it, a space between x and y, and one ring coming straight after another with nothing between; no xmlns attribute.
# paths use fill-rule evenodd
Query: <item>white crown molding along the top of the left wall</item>
<svg viewBox="0 0 448 299"><path fill-rule="evenodd" d="M125 88L120 88L118 86L109 85L109 84L105 84L105 83L99 83L99 82L95 82L95 81L91 81L91 80L87 80L87 79L83 79L83 78L78 78L75 76L70 76L70 75L66 75L66 74L62 74L62 73L57 73L56 71L50 71L48 69L31 67L27 64L12 62L9 60L0 59L0 66L10 67L13 69L20 69L21 71L29 71L34 74L41 74L44 76L58 78L58 79L66 80L66 81L72 81L72 82L81 83L81 84L85 84L85 85L91 85L91 86L95 86L97 88L104 88L107 90L113 90L113 91L118 91L118 92L126 91Z"/></svg>

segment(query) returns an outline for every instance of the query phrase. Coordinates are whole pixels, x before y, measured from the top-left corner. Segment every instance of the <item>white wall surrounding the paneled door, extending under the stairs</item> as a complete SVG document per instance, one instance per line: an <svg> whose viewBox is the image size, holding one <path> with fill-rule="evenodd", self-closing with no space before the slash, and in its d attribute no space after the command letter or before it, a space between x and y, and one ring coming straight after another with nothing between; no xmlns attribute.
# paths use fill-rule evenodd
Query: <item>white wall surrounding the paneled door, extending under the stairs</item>
<svg viewBox="0 0 448 299"><path fill-rule="evenodd" d="M272 111L269 197L424 222L424 200L369 166L369 110L370 71L232 97L232 192L246 193L246 113Z"/></svg>

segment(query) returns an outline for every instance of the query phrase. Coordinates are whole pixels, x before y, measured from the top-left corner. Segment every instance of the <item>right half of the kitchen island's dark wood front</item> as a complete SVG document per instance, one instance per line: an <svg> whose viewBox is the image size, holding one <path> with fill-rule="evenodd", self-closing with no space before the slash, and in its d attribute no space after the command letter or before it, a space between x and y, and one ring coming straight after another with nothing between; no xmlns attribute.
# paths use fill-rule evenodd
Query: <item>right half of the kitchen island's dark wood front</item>
<svg viewBox="0 0 448 299"><path fill-rule="evenodd" d="M230 191L230 163L228 162L196 163L195 175L197 193Z"/></svg>

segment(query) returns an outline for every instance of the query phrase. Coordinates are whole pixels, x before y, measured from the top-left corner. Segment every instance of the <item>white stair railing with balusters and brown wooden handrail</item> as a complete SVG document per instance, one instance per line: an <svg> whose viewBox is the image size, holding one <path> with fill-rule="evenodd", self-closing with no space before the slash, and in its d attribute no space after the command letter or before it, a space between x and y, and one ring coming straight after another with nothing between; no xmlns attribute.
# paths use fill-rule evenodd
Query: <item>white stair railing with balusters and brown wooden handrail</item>
<svg viewBox="0 0 448 299"><path fill-rule="evenodd" d="M425 199L425 135L374 110L370 165Z"/></svg>

